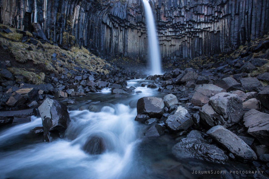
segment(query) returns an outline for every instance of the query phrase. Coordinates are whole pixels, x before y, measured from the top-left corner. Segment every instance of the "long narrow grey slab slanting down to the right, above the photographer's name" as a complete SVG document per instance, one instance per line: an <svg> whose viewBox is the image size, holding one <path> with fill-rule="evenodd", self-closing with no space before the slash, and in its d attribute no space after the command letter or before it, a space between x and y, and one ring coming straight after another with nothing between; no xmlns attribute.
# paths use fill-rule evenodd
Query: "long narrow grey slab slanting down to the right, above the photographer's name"
<svg viewBox="0 0 269 179"><path fill-rule="evenodd" d="M250 146L223 126L214 126L207 131L207 134L225 146L235 156L244 160L257 160L257 155Z"/></svg>

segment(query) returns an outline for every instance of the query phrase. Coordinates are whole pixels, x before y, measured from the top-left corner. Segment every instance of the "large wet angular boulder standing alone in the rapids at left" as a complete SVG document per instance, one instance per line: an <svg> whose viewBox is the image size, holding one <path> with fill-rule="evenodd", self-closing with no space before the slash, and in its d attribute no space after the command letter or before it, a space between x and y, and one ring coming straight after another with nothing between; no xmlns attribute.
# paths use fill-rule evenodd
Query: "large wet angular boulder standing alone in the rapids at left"
<svg viewBox="0 0 269 179"><path fill-rule="evenodd" d="M38 110L44 128L44 141L50 142L53 134L61 136L70 121L67 107L56 100L47 98Z"/></svg>

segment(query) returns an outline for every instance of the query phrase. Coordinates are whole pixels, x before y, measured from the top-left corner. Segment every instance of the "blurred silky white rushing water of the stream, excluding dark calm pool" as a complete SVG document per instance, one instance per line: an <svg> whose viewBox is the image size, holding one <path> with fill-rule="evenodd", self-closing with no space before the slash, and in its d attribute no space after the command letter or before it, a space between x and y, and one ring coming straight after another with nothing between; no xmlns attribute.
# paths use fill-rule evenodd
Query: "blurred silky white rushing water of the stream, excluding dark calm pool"
<svg viewBox="0 0 269 179"><path fill-rule="evenodd" d="M130 81L130 84L140 86L137 80ZM157 92L157 89L138 88L141 93L124 98L122 103L100 102L102 98L109 100L105 99L106 96L113 97L111 92L106 94L106 90L94 94L99 96L99 102L94 98L86 101L90 102L88 105L92 103L99 109L95 112L69 111L71 122L65 131L65 137L51 143L42 142L40 136L38 141L25 144L33 136L31 129L42 126L41 118L36 116L32 116L31 122L2 130L0 178L137 178L141 170L136 164L138 156L135 151L143 134L140 132L141 126L134 121L136 108L130 107L129 103L136 103L139 98ZM105 150L99 155L90 154L85 149L93 136L101 138L105 146Z"/></svg>

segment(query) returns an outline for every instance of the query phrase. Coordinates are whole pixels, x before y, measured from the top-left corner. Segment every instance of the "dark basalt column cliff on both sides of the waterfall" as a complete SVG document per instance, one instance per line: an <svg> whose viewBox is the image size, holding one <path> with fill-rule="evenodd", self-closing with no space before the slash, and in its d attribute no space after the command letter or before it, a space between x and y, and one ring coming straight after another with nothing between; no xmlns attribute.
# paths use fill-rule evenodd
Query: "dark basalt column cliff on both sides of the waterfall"
<svg viewBox="0 0 269 179"><path fill-rule="evenodd" d="M228 52L268 33L269 0L150 0L162 57ZM141 0L0 0L0 22L103 57L145 59Z"/></svg>

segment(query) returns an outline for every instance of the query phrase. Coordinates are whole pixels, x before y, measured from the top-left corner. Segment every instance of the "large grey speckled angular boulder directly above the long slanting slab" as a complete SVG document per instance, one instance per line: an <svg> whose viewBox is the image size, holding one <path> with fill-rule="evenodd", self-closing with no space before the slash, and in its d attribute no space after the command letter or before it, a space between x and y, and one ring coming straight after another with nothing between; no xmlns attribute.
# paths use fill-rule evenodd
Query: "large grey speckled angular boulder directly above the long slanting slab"
<svg viewBox="0 0 269 179"><path fill-rule="evenodd" d="M218 93L209 99L209 104L229 124L235 124L242 118L243 105L241 99L236 94Z"/></svg>

